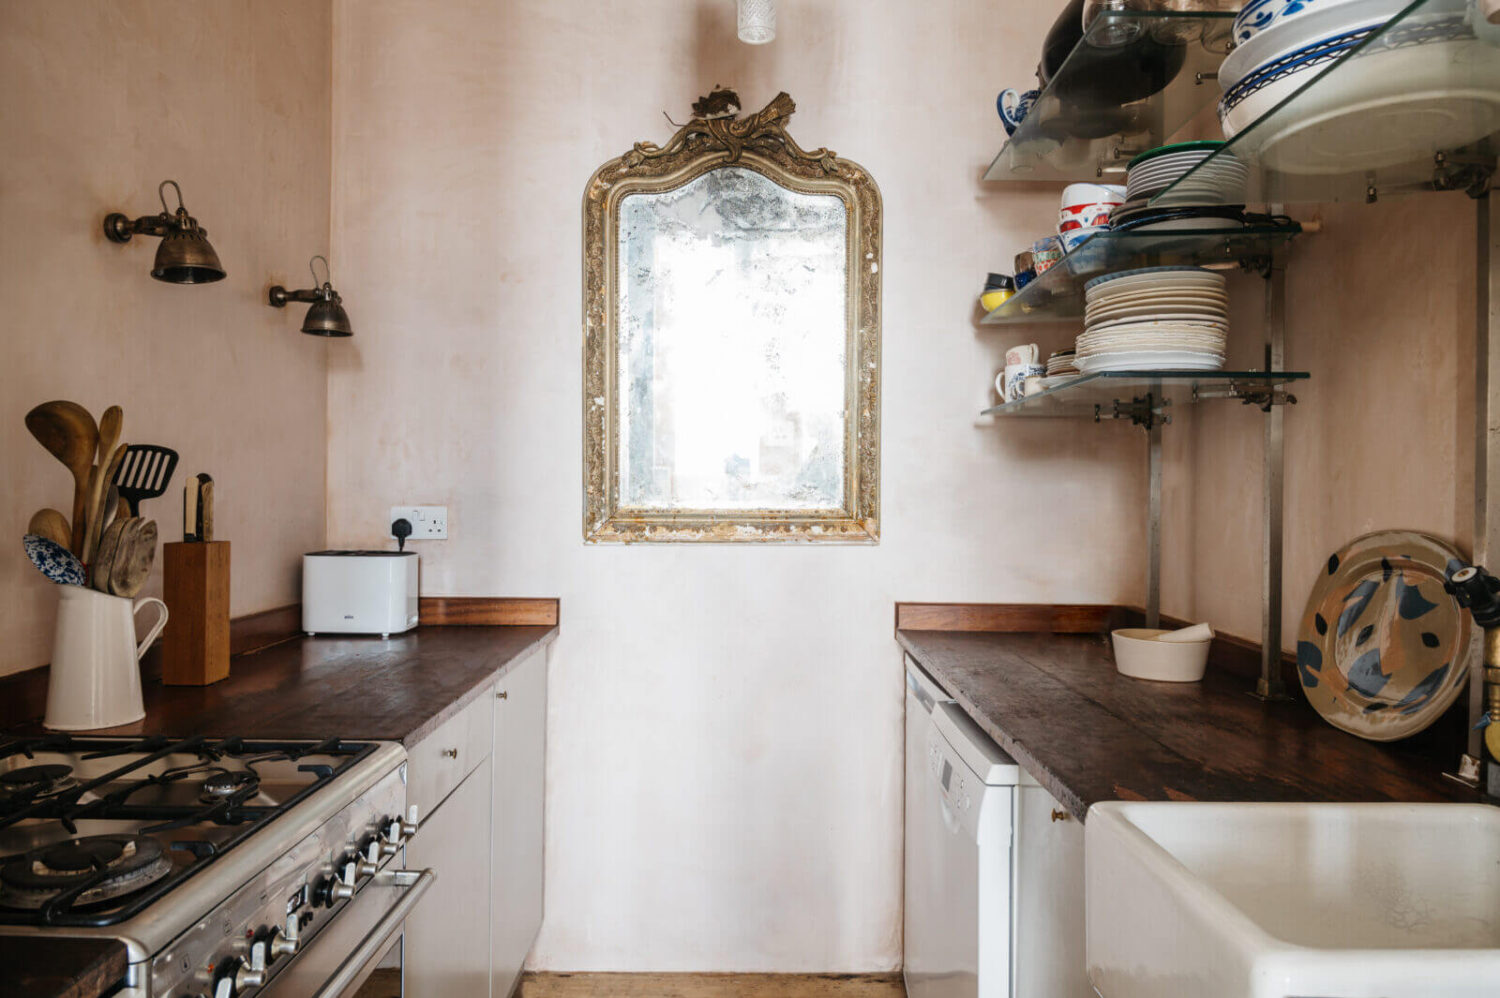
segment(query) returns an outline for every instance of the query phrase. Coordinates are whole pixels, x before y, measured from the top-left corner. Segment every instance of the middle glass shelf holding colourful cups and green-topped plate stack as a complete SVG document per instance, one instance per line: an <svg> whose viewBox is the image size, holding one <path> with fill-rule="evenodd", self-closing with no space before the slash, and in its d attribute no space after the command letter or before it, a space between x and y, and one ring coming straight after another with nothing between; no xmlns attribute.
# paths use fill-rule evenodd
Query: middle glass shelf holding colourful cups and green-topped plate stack
<svg viewBox="0 0 1500 998"><path fill-rule="evenodd" d="M1077 318L1083 315L1083 285L1101 273L1179 264L1234 264L1270 257L1274 249L1288 243L1300 231L1302 227L1292 222L1185 233L1100 233L1083 240L1071 254L1006 299L981 324Z"/></svg>

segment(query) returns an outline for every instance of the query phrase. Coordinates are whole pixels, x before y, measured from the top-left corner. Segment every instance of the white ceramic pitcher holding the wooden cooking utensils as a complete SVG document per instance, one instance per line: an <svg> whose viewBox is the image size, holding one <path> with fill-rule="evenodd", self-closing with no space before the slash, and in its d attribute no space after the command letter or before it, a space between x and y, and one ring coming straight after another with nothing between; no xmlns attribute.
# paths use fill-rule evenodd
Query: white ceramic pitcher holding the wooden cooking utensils
<svg viewBox="0 0 1500 998"><path fill-rule="evenodd" d="M58 585L57 632L46 684L48 728L81 731L128 725L146 716L141 656L166 626L166 603L129 600L82 585ZM154 605L160 615L135 642L135 615Z"/></svg>

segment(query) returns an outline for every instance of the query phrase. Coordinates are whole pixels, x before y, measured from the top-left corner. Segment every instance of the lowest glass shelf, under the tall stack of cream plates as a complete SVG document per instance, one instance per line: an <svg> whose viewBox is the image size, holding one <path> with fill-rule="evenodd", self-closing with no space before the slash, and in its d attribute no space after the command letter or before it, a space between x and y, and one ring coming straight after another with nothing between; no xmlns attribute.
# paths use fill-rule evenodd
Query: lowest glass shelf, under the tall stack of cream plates
<svg viewBox="0 0 1500 998"><path fill-rule="evenodd" d="M1072 419L1130 417L1131 402L1152 396L1154 405L1170 399L1176 405L1209 399L1254 402L1293 381L1305 371L1104 371L1080 374L1014 402L993 405L982 416L1060 416ZM1119 404L1119 411L1116 411Z"/></svg>

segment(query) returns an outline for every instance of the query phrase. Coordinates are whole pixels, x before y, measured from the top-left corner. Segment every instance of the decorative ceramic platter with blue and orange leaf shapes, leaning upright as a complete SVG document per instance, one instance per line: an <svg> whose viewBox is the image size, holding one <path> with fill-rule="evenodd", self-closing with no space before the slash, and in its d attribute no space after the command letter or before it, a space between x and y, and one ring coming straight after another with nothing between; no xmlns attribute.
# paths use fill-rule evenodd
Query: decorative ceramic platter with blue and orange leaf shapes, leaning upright
<svg viewBox="0 0 1500 998"><path fill-rule="evenodd" d="M1468 675L1468 612L1443 579L1461 555L1404 530L1348 542L1329 557L1298 632L1298 677L1323 717L1371 741L1422 731Z"/></svg>

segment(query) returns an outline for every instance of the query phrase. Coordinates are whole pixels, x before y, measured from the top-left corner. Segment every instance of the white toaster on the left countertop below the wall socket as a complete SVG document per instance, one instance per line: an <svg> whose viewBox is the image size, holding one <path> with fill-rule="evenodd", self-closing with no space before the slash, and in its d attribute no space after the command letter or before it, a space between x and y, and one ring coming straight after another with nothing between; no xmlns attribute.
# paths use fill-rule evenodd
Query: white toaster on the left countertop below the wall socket
<svg viewBox="0 0 1500 998"><path fill-rule="evenodd" d="M416 551L302 555L302 629L309 635L388 638L416 626Z"/></svg>

